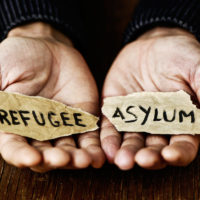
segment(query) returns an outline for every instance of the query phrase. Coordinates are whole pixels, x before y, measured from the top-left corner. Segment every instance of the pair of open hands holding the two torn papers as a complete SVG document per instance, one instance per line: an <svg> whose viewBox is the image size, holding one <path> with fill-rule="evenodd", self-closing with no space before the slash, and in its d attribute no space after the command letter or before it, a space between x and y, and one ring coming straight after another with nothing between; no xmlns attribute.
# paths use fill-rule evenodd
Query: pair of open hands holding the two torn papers
<svg viewBox="0 0 200 200"><path fill-rule="evenodd" d="M70 40L47 24L10 31L0 44L1 90L38 95L99 114L96 83ZM141 91L184 90L200 101L200 44L181 29L157 28L124 47L107 74L102 99ZM100 135L100 136L99 136ZM103 116L93 131L38 142L0 133L0 153L10 164L37 172L100 168L107 158L120 169L185 166L196 156L196 136L118 133Z"/></svg>

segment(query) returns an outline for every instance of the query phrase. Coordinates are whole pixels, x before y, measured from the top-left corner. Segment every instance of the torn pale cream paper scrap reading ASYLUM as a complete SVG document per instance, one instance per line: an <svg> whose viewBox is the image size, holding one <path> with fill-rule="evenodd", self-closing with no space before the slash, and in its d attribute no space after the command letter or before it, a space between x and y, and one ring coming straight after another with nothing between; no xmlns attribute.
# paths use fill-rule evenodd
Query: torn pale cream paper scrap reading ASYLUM
<svg viewBox="0 0 200 200"><path fill-rule="evenodd" d="M102 112L118 131L200 134L200 109L184 91L109 97Z"/></svg>

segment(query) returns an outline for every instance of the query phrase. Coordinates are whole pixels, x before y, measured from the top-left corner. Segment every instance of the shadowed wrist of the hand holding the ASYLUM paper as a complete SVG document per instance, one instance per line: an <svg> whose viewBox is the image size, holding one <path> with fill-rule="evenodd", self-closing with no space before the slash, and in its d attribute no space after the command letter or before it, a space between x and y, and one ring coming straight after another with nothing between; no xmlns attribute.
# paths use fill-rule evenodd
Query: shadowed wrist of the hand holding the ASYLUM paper
<svg viewBox="0 0 200 200"><path fill-rule="evenodd" d="M167 27L157 27L153 28L144 34L142 34L138 39L139 40L146 40L152 38L159 38L159 37L167 37L167 36L188 36L191 38L195 38L190 32L181 29L181 28L167 28Z"/></svg>

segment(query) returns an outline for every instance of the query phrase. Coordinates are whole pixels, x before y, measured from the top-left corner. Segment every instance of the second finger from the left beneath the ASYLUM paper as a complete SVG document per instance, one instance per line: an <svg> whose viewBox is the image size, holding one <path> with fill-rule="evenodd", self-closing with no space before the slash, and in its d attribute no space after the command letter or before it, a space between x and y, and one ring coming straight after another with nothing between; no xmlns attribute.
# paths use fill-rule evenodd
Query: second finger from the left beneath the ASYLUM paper
<svg viewBox="0 0 200 200"><path fill-rule="evenodd" d="M120 150L115 156L115 164L122 170L129 170L135 164L135 154L144 147L142 133L125 133Z"/></svg>

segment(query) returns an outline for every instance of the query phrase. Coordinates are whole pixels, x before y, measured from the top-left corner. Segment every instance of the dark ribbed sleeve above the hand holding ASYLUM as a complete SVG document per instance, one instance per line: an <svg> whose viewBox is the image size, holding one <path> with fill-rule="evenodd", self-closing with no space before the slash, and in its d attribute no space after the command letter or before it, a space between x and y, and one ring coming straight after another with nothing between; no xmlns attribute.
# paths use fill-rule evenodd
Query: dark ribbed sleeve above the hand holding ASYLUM
<svg viewBox="0 0 200 200"><path fill-rule="evenodd" d="M158 26L183 28L200 41L200 1L140 0L125 32L124 44Z"/></svg>

